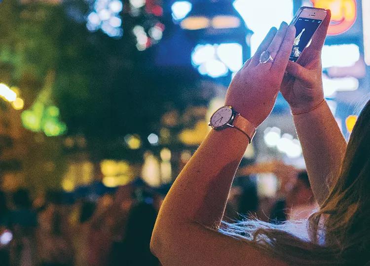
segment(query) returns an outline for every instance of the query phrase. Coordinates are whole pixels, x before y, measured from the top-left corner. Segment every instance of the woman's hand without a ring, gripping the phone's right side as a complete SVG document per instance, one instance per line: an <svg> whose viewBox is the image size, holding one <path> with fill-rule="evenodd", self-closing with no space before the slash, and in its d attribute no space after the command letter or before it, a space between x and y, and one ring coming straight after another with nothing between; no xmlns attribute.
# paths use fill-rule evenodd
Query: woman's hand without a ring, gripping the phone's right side
<svg viewBox="0 0 370 266"><path fill-rule="evenodd" d="M297 63L289 61L281 93L293 113L307 112L324 100L321 50L330 24L331 13L312 37L310 46L304 49Z"/></svg>

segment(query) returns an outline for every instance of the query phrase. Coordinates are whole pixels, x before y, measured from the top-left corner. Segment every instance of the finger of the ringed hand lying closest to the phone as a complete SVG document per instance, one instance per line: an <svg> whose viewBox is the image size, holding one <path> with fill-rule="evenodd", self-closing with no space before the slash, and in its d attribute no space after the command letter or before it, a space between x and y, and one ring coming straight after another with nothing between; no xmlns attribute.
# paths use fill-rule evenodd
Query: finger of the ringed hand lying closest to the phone
<svg viewBox="0 0 370 266"><path fill-rule="evenodd" d="M280 46L279 52L276 55L276 58L272 64L271 69L275 70L280 69L283 74L283 71L286 69L289 57L292 53L292 47L294 44L295 37L296 37L296 27L294 27L293 25L289 26L287 33L285 34L284 41Z"/></svg>

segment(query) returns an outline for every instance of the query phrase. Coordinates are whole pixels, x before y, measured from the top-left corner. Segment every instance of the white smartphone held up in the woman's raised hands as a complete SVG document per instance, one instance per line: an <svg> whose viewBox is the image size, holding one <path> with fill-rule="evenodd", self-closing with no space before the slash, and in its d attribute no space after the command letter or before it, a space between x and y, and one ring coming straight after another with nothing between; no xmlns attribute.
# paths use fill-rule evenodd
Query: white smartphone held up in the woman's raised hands
<svg viewBox="0 0 370 266"><path fill-rule="evenodd" d="M309 46L312 36L325 19L327 12L322 8L302 6L296 12L291 25L296 26L296 39L294 41L290 60L296 62L304 48Z"/></svg>

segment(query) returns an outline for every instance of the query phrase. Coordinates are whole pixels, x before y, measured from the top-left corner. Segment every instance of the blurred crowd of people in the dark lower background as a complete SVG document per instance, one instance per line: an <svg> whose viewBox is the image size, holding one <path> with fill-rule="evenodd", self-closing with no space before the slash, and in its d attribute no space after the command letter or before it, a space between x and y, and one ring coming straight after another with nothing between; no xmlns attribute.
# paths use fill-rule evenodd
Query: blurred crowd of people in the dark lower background
<svg viewBox="0 0 370 266"><path fill-rule="evenodd" d="M261 197L258 174L278 179L275 197ZM157 266L151 232L169 186L153 189L140 178L116 189L95 183L75 193L50 191L32 198L25 189L0 192L1 266ZM317 208L305 171L280 162L242 167L224 220L282 223Z"/></svg>

